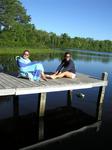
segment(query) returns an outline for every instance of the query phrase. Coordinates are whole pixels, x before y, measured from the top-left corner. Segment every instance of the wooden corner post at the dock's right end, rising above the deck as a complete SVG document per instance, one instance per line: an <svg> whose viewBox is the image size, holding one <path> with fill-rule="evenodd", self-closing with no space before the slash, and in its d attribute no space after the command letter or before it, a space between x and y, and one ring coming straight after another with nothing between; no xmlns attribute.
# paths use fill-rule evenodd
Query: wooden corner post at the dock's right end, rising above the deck
<svg viewBox="0 0 112 150"><path fill-rule="evenodd" d="M102 80L107 81L108 80L107 78L108 78L108 73L107 72L102 73ZM106 86L102 86L99 89L97 108L96 108L96 119L97 119L97 121L101 121L101 118L102 118L105 89L106 89ZM99 130L99 128L97 128L97 131L98 130Z"/></svg>

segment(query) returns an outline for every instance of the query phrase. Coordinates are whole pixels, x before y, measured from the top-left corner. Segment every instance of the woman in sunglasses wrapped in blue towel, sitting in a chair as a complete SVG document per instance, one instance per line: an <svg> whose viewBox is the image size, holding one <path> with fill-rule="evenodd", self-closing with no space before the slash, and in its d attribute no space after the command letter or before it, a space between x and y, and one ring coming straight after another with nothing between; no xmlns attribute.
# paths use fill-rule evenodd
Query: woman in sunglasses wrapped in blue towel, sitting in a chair
<svg viewBox="0 0 112 150"><path fill-rule="evenodd" d="M16 57L17 65L20 71L19 76L29 78L31 81L39 81L40 78L46 80L43 65L37 61L31 62L29 56L29 50L25 50L22 56Z"/></svg>

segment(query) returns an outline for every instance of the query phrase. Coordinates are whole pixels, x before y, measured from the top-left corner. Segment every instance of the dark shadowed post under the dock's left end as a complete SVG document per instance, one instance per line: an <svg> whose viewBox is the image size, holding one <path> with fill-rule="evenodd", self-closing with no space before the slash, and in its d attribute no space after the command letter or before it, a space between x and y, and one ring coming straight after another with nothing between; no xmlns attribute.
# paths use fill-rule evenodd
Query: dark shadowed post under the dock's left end
<svg viewBox="0 0 112 150"><path fill-rule="evenodd" d="M13 116L19 116L19 97L13 96Z"/></svg>

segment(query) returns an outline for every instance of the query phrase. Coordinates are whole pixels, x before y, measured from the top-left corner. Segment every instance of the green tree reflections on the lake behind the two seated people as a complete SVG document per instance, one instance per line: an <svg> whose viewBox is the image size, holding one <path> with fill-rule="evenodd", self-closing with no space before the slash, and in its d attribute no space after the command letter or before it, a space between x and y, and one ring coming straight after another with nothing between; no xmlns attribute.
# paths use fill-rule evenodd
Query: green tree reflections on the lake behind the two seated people
<svg viewBox="0 0 112 150"><path fill-rule="evenodd" d="M112 61L112 57L104 56L104 55L91 55L91 54L86 54L86 53L77 53L73 52L73 59L75 61L85 61L85 62L91 62L91 61L98 61L102 63L109 63ZM52 63L53 61L60 61L63 57L62 53L53 53L53 54L38 54L38 55L32 55L31 59L32 60L37 60L37 61L47 61L49 63ZM6 71L6 72L16 72L17 71L17 65L15 62L15 55L1 55L0 56L0 71Z"/></svg>

